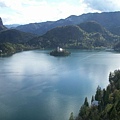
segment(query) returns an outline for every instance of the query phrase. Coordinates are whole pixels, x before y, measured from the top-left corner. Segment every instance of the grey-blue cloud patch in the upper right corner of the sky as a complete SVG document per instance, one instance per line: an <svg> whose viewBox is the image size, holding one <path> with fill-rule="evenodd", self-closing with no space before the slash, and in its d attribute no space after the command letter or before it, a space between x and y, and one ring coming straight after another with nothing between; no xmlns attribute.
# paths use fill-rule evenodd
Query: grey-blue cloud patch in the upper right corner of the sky
<svg viewBox="0 0 120 120"><path fill-rule="evenodd" d="M84 3L94 9L101 12L119 11L119 0L84 0Z"/></svg>

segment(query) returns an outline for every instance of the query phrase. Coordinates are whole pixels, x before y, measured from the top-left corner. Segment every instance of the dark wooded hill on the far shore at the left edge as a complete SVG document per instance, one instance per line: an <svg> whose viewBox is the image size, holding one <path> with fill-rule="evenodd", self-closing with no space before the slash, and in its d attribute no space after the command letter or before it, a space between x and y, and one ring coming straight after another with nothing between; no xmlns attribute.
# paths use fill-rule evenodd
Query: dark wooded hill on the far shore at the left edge
<svg viewBox="0 0 120 120"><path fill-rule="evenodd" d="M35 37L33 34L21 32L15 29L0 31L0 55L10 55L22 50L31 49L25 45L27 41Z"/></svg>

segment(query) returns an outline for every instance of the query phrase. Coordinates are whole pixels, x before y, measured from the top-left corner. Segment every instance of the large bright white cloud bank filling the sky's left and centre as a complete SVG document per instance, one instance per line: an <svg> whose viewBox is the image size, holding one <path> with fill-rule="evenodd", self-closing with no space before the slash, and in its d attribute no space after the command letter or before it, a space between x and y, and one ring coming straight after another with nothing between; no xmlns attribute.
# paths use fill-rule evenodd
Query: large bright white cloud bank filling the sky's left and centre
<svg viewBox="0 0 120 120"><path fill-rule="evenodd" d="M6 6L0 14L5 24L54 21L70 15L80 15L85 5L80 0L0 0ZM56 2L57 1L57 2ZM1 9L0 9L1 10ZM9 14L8 14L9 13ZM7 18L9 20L7 22Z"/></svg>

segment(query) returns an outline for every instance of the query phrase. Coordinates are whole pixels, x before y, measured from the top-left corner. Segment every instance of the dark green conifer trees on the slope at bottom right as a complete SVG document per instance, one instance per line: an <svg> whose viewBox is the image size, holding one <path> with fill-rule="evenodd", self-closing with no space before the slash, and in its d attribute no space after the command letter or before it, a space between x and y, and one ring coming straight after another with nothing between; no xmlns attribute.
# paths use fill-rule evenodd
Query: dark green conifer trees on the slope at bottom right
<svg viewBox="0 0 120 120"><path fill-rule="evenodd" d="M110 84L106 90L98 86L95 100L99 102L96 106L86 106L80 108L76 120L119 120L120 118L120 70L115 70L109 74ZM92 100L94 97L92 97ZM86 101L86 100L85 100Z"/></svg>

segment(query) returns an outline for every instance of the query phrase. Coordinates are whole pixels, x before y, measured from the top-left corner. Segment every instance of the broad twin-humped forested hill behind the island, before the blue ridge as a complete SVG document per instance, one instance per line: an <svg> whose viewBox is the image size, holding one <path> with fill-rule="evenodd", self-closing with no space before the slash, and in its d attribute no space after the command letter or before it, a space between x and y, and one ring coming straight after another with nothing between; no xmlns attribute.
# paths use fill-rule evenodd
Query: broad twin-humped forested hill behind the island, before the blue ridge
<svg viewBox="0 0 120 120"><path fill-rule="evenodd" d="M96 22L86 22L79 25L56 27L43 36L36 37L28 44L38 48L64 48L93 49L113 47L120 37L111 34Z"/></svg>

